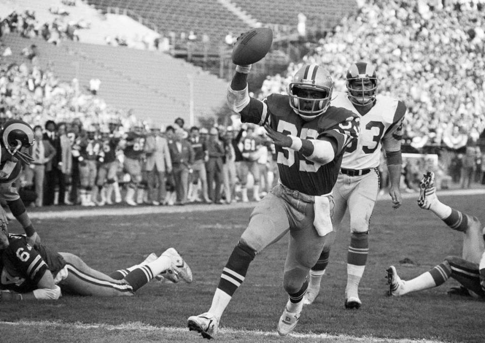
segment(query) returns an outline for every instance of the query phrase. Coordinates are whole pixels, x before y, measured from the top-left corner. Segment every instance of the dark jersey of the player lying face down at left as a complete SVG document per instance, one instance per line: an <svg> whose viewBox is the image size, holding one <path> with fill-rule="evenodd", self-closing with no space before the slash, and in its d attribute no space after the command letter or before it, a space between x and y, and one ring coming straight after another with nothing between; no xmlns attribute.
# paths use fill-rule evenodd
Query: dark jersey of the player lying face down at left
<svg viewBox="0 0 485 343"><path fill-rule="evenodd" d="M51 271L55 277L66 265L58 253L42 245L31 247L25 235L9 235L9 242L10 246L2 251L0 288L4 290L32 292L44 272Z"/></svg>

